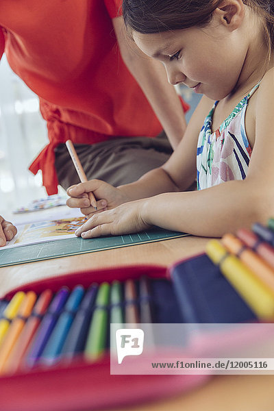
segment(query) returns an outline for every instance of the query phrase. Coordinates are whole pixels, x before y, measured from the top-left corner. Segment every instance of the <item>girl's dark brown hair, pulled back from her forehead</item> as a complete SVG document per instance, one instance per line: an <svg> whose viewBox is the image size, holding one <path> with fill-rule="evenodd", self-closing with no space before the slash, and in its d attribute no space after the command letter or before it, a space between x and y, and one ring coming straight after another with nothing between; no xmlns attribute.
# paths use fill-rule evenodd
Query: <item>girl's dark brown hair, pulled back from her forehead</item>
<svg viewBox="0 0 274 411"><path fill-rule="evenodd" d="M123 0L123 18L129 31L142 34L203 27L223 0ZM274 0L243 0L264 22L269 48L274 45Z"/></svg>

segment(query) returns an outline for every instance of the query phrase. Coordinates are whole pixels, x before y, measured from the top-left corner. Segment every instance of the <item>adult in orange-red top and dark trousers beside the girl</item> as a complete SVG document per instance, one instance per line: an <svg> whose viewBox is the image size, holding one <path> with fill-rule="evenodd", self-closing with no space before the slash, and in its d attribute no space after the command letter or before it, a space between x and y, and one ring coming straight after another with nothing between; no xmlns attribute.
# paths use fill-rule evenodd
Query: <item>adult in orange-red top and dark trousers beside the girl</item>
<svg viewBox="0 0 274 411"><path fill-rule="evenodd" d="M184 134L187 105L162 64L140 55L125 36L120 5L0 1L0 58L5 51L12 70L38 95L47 121L49 144L30 170L42 170L49 195L58 184L79 182L67 139L88 179L119 185L163 164ZM163 128L169 141L156 137Z"/></svg>

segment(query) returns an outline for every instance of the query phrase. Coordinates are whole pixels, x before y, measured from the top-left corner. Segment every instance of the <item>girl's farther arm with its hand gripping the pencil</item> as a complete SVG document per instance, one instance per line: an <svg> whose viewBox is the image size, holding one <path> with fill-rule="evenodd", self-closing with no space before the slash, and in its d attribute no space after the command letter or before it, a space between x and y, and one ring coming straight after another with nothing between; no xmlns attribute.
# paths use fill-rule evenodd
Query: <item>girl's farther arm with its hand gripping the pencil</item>
<svg viewBox="0 0 274 411"><path fill-rule="evenodd" d="M92 191L97 199L99 211L119 206L121 203L158 195L162 192L187 190L196 177L196 152L199 131L203 120L212 107L212 101L202 97L192 114L184 138L169 160L160 168L140 177L138 181L114 188L105 182L94 179L68 189L71 199L69 207L81 208L83 214L90 215L95 209L90 207L88 192Z"/></svg>

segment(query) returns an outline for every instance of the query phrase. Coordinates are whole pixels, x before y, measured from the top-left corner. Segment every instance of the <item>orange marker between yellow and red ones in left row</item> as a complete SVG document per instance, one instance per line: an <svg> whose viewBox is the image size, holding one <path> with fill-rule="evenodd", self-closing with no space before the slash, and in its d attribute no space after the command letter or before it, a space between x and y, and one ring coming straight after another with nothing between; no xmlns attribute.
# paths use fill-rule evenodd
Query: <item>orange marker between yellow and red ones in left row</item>
<svg viewBox="0 0 274 411"><path fill-rule="evenodd" d="M22 332L27 318L32 313L32 308L35 301L36 293L34 291L27 292L18 310L17 316L14 318L8 329L8 332L5 334L3 344L0 348L0 373L5 369L5 363L10 356L10 353L16 343L16 340L18 339L18 336Z"/></svg>

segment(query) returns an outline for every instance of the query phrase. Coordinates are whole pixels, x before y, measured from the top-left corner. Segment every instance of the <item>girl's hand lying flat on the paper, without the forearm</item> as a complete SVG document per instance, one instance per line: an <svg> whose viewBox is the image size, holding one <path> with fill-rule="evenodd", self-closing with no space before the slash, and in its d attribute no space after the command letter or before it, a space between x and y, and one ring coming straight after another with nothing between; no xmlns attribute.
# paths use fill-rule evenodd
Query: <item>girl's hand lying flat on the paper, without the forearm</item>
<svg viewBox="0 0 274 411"><path fill-rule="evenodd" d="M131 234L147 229L151 225L146 223L141 216L144 201L131 201L113 210L94 214L82 227L76 230L75 234L77 237L92 238Z"/></svg>

